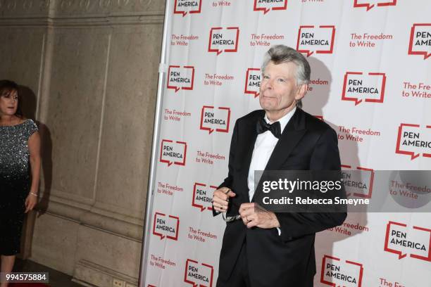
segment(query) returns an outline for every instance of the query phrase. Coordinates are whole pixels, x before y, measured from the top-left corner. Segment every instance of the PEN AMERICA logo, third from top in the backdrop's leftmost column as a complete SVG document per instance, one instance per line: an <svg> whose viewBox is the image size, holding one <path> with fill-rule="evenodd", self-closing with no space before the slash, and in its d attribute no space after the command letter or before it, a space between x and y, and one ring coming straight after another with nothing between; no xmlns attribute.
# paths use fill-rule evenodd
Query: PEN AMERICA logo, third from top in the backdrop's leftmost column
<svg viewBox="0 0 431 287"><path fill-rule="evenodd" d="M163 139L160 148L160 162L170 165L185 165L187 143L184 141L171 141Z"/></svg>

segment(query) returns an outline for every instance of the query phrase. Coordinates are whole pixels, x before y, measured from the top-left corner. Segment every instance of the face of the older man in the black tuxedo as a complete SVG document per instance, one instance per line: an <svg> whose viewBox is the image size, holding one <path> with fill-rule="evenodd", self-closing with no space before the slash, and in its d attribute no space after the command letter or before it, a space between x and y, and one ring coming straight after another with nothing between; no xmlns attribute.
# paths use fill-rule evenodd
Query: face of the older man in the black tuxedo
<svg viewBox="0 0 431 287"><path fill-rule="evenodd" d="M266 65L262 75L259 103L269 113L285 115L304 97L306 89L296 84L296 64L273 62Z"/></svg>

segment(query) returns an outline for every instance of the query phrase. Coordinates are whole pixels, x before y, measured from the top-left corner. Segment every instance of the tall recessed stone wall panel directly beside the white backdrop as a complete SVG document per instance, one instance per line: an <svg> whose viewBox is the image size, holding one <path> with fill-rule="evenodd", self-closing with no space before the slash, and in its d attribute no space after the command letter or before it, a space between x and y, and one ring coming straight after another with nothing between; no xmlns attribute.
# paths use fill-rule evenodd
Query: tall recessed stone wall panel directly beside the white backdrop
<svg viewBox="0 0 431 287"><path fill-rule="evenodd" d="M162 25L113 33L96 200L142 217Z"/></svg>

